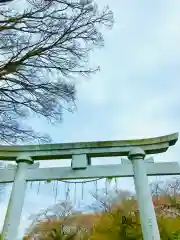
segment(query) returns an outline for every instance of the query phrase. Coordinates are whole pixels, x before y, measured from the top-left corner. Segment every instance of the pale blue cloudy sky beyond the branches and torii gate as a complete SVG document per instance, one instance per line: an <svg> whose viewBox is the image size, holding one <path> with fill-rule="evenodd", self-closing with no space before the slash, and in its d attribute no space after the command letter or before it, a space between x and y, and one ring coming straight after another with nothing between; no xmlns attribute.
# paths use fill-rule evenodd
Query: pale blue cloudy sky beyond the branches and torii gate
<svg viewBox="0 0 180 240"><path fill-rule="evenodd" d="M62 124L53 127L37 119L31 124L50 134L53 142L146 138L179 132L180 1L97 3L109 4L115 15L114 28L104 33L104 49L93 52L90 58L101 71L91 79L77 80L78 109L74 114L65 113ZM179 147L178 142L154 159L179 161ZM109 159L105 162L110 163ZM47 165L52 166L52 162ZM132 184L132 180L121 181L122 188L132 189ZM35 190L29 190L21 232L33 210L54 203L48 191L46 188L37 196ZM5 209L2 201L1 209Z"/></svg>

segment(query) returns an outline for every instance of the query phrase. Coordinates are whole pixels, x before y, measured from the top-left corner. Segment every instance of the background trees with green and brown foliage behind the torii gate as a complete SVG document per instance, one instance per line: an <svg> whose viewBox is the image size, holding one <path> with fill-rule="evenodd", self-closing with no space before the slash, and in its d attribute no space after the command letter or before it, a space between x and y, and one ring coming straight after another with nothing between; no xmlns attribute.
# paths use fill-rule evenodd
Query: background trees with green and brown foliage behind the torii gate
<svg viewBox="0 0 180 240"><path fill-rule="evenodd" d="M151 185L162 240L180 238L179 181L176 178ZM36 235L39 240L142 240L135 194L112 189L104 198L103 192L97 193L93 193L95 202L91 207L100 205L99 211L78 213L69 202L59 202L34 218L25 239Z"/></svg>

